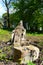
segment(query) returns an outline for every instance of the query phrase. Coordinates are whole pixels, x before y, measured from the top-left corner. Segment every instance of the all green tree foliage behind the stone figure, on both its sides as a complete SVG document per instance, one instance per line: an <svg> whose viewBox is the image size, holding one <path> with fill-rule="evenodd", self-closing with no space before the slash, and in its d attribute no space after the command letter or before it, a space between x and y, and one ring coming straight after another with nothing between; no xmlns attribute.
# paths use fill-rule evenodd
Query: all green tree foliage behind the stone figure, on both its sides
<svg viewBox="0 0 43 65"><path fill-rule="evenodd" d="M9 15L11 27L15 28L19 21L23 20L27 31L43 32L43 4L41 0L14 0L12 7L14 13Z"/></svg>

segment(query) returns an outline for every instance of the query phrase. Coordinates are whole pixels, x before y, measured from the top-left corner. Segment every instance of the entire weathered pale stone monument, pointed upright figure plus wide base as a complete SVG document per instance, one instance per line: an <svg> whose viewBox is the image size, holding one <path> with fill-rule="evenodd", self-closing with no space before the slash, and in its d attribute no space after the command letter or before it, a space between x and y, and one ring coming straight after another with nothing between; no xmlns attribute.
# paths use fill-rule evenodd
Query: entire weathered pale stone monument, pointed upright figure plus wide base
<svg viewBox="0 0 43 65"><path fill-rule="evenodd" d="M12 40L14 43L14 61L18 61L22 58L21 63L27 63L27 61L35 61L39 57L39 48L34 45L26 44L26 29L23 27L22 20L19 25L12 32Z"/></svg>

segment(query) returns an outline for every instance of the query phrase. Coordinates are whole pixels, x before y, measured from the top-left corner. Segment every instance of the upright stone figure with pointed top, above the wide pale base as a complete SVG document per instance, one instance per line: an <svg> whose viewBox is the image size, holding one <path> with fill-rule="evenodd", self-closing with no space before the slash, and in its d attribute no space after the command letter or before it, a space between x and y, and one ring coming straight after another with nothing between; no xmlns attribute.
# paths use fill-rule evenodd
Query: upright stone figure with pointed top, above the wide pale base
<svg viewBox="0 0 43 65"><path fill-rule="evenodd" d="M19 25L13 30L12 39L14 38L14 45L20 46L25 41L26 30L23 27L22 20Z"/></svg>

